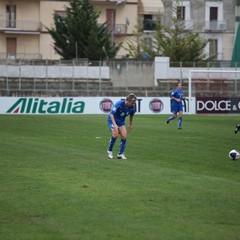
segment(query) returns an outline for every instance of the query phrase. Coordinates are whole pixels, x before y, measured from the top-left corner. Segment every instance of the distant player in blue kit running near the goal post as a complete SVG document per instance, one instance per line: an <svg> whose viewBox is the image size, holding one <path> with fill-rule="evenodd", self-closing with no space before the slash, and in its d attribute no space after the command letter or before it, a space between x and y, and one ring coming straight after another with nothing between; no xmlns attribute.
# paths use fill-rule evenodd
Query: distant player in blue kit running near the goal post
<svg viewBox="0 0 240 240"><path fill-rule="evenodd" d="M183 91L182 91L182 84L179 83L177 88L171 92L170 98L172 99L172 109L171 112L173 115L168 118L167 124L174 120L178 114L178 129L182 128L182 115L183 115Z"/></svg>

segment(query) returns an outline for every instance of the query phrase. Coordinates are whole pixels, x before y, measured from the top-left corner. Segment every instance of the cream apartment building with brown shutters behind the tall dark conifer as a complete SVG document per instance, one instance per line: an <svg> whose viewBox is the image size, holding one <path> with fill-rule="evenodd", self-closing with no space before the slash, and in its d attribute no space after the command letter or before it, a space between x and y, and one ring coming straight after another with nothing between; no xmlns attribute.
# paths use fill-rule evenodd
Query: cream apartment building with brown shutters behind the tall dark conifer
<svg viewBox="0 0 240 240"><path fill-rule="evenodd" d="M108 22L115 41L124 41L137 23L138 0L90 0L101 11L99 22ZM64 14L70 1L0 1L0 58L59 59L46 27L53 14ZM120 51L119 53L123 53Z"/></svg>

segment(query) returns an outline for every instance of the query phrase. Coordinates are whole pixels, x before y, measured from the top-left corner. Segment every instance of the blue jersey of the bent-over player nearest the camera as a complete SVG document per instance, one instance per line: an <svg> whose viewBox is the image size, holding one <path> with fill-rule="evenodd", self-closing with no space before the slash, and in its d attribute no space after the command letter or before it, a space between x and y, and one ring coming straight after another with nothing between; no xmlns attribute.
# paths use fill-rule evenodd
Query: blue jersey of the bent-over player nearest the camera
<svg viewBox="0 0 240 240"><path fill-rule="evenodd" d="M125 106L125 100L120 100L113 105L111 112L108 114L108 124L112 123L110 114L113 114L114 119L119 127L125 125L125 118L128 115L134 115L136 112L136 105L131 107Z"/></svg>

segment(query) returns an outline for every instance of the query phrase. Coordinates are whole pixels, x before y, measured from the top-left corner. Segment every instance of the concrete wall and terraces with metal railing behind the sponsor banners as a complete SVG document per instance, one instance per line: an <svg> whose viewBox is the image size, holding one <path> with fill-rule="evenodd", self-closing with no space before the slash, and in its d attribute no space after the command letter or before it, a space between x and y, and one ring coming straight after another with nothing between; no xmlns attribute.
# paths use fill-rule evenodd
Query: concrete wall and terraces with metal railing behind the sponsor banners
<svg viewBox="0 0 240 240"><path fill-rule="evenodd" d="M159 68L159 64L161 65L161 62L137 59L115 59L108 62L89 62L87 59L72 61L6 59L0 61L0 95L119 96L133 91L139 96L168 96L179 81L183 83L187 94L189 70L225 70L234 65L230 61L212 62L206 66L196 63L171 63L169 67L163 69L163 66ZM237 66L238 63L235 63L231 71L238 70ZM202 93L208 94L212 91L221 96L239 96L239 73L222 74L220 78L217 77L219 79L215 75L207 75L207 71L204 74L197 78L195 76L197 84L204 85L208 80L218 81L217 85L213 83L216 89L204 88L201 90ZM209 81L208 83L210 86Z"/></svg>

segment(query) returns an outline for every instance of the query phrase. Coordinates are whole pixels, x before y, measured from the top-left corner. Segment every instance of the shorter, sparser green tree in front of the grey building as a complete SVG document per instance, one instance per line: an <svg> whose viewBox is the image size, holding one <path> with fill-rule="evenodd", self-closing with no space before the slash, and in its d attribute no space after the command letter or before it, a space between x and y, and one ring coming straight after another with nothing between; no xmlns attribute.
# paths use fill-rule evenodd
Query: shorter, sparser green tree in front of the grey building
<svg viewBox="0 0 240 240"><path fill-rule="evenodd" d="M172 19L173 26L167 27L161 24L158 16L155 25L155 32L152 36L152 44L146 42L141 24L133 35L135 40L129 40L125 48L132 57L164 56L169 57L171 62L206 62L213 59L204 54L204 49L208 43L207 39L200 36L199 33L193 33L183 24L180 24L176 18ZM138 49L138 51L136 51ZM140 49L140 50L139 50ZM134 50L134 51L133 51Z"/></svg>

